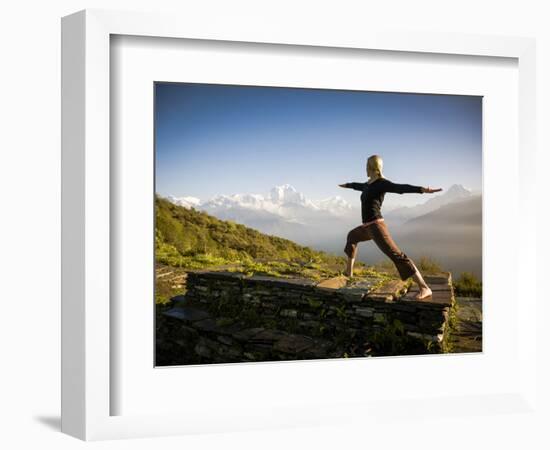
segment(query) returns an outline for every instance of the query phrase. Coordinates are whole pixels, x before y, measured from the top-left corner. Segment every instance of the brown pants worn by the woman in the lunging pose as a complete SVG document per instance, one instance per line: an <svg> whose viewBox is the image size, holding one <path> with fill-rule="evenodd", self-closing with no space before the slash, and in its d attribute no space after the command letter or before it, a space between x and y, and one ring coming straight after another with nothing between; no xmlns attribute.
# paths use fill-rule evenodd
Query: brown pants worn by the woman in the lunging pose
<svg viewBox="0 0 550 450"><path fill-rule="evenodd" d="M348 233L344 252L348 257L355 258L357 244L363 241L370 241L371 239L393 261L402 280L406 280L416 272L416 266L405 253L399 250L384 221L370 223L369 225L359 225L351 230Z"/></svg>

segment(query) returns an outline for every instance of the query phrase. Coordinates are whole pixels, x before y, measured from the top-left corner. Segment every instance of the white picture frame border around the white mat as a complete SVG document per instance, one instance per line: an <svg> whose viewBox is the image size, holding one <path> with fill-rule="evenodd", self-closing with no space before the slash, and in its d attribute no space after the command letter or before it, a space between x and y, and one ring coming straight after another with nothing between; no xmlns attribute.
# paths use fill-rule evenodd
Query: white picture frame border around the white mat
<svg viewBox="0 0 550 450"><path fill-rule="evenodd" d="M235 413L220 405L217 414L130 414L111 415L112 383L110 336L111 211L110 187L116 173L110 161L110 37L144 36L200 39L242 43L286 44L338 49L368 49L416 54L447 54L513 58L519 77L519 183L517 212L526 227L535 228L533 199L529 195L535 158L535 42L519 37L472 36L448 33L349 30L337 34L311 34L307 29L285 29L265 23L234 28L230 23L204 24L192 17L87 10L62 21L62 431L85 440L162 436L220 430L246 430L366 418L389 408L383 402L341 402L330 412L319 414L319 405L291 408L284 405L266 411ZM517 260L534 261L535 236L524 236ZM518 264L518 285L533 272ZM530 290L530 291L529 291ZM529 315L536 310L535 286L523 289L518 311L518 339L534 342L536 330ZM510 295L519 295L517 291ZM529 348L529 350L527 350ZM116 356L116 355L115 355ZM536 397L536 353L533 346L519 352L517 383L499 394L469 395L488 414L503 404L516 412L531 410ZM402 361L401 361L402 363ZM388 364L394 364L392 362ZM395 364L400 364L396 362ZM349 364L348 364L349 366ZM251 367L250 365L248 367ZM276 365L263 366L264 376ZM167 369L169 370L169 369ZM426 401L440 405L442 398L399 397L392 401ZM445 399L450 408L467 415L464 399ZM416 403L415 403L416 402ZM422 406L424 405L424 406ZM266 405L264 405L266 406ZM305 414L309 412L309 415ZM247 417L249 420L239 420ZM230 420L231 419L231 420Z"/></svg>

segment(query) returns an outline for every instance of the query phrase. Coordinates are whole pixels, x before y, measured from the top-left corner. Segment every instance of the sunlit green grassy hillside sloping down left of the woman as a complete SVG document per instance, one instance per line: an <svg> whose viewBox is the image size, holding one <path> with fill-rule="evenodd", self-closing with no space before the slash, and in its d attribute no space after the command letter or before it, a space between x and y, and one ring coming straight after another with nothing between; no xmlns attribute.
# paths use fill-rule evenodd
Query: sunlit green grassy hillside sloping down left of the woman
<svg viewBox="0 0 550 450"><path fill-rule="evenodd" d="M337 274L343 256L315 251L203 211L156 198L156 260L158 264L198 269L238 265L245 271L315 277ZM310 269L308 272L307 269ZM360 269L360 266L358 266Z"/></svg>

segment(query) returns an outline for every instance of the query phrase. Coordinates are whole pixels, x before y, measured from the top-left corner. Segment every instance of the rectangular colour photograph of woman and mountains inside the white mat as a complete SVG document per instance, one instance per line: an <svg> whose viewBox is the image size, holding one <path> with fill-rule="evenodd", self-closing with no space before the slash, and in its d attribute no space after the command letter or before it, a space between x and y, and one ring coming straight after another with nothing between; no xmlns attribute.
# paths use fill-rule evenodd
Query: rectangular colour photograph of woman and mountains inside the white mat
<svg viewBox="0 0 550 450"><path fill-rule="evenodd" d="M482 352L482 96L153 89L155 366Z"/></svg>

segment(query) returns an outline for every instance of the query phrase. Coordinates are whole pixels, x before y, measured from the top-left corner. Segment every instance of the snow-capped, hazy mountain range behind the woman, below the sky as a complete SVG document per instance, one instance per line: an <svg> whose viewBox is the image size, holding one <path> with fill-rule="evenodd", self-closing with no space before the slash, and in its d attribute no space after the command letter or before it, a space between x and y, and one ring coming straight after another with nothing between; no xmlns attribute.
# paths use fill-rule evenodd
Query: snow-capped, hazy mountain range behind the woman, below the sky
<svg viewBox="0 0 550 450"><path fill-rule="evenodd" d="M361 223L359 201L351 205L340 196L311 200L289 184L266 194L217 195L204 201L169 196L168 200L338 255L343 254L347 232ZM452 270L481 275L480 194L454 184L423 203L383 214L399 246L411 257L431 256ZM375 246L363 247L360 260L374 263L384 258Z"/></svg>

